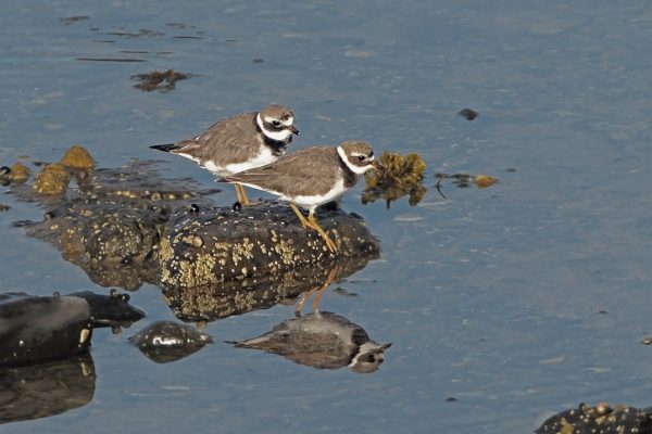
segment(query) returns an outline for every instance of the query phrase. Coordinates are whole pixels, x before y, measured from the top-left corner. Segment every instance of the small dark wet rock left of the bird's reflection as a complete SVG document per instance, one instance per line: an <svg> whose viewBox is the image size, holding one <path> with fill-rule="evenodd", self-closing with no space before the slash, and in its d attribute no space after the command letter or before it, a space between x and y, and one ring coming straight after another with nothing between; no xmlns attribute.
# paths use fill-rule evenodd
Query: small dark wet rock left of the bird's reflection
<svg viewBox="0 0 652 434"><path fill-rule="evenodd" d="M213 342L210 334L172 321L155 321L129 341L156 363L167 363L197 353Z"/></svg>

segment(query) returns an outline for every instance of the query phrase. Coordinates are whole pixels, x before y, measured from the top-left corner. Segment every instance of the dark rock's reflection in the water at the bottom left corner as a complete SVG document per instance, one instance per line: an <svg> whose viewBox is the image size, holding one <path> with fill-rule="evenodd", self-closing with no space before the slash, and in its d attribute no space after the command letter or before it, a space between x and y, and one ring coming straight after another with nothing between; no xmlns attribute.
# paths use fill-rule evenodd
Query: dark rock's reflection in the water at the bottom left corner
<svg viewBox="0 0 652 434"><path fill-rule="evenodd" d="M0 423L46 418L83 407L95 394L90 354L0 369Z"/></svg>

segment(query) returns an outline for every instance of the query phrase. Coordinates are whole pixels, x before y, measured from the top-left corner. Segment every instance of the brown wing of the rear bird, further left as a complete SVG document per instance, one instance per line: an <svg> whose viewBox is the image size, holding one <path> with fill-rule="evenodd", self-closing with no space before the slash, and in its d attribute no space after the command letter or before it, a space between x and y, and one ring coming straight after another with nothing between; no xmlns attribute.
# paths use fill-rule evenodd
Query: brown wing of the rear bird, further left
<svg viewBox="0 0 652 434"><path fill-rule="evenodd" d="M201 136L178 142L175 153L218 166L246 162L260 146L255 113L243 113L213 124Z"/></svg>

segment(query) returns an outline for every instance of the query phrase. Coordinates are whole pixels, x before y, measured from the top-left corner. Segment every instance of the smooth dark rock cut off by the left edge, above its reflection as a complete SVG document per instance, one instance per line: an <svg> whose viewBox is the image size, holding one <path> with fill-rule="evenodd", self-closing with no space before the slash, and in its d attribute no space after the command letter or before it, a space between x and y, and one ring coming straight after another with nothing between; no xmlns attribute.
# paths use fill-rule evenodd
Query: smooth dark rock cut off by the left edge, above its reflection
<svg viewBox="0 0 652 434"><path fill-rule="evenodd" d="M90 308L79 297L0 294L0 366L66 357L90 346Z"/></svg>

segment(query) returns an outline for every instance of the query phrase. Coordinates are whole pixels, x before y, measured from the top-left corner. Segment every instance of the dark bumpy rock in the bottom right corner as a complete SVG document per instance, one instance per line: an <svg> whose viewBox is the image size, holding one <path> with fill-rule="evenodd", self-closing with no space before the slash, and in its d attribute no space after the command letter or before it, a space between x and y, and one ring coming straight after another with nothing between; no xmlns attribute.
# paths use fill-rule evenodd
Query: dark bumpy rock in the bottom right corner
<svg viewBox="0 0 652 434"><path fill-rule="evenodd" d="M537 434L624 434L652 433L652 408L637 409L625 405L613 408L607 404L592 407L580 404L549 418Z"/></svg>

